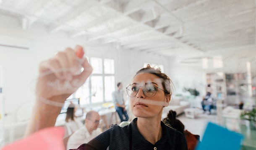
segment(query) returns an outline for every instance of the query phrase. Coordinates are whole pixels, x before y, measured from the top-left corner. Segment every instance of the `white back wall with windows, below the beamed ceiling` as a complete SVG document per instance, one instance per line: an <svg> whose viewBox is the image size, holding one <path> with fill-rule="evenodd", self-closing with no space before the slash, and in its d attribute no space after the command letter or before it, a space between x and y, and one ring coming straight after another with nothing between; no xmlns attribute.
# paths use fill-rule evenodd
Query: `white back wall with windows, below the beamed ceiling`
<svg viewBox="0 0 256 150"><path fill-rule="evenodd" d="M6 124L29 118L34 102L34 84L39 62L65 47L80 44L85 47L88 56L115 59L116 82L121 81L124 85L131 82L131 78L143 67L144 62L162 64L165 66L165 72L169 70L168 59L165 57L130 52L116 47L100 45L86 47L85 37L71 39L63 32L49 34L46 27L37 24L24 31L19 20L8 16L0 16L0 18L0 35L26 39L33 45L33 50L0 47L0 66L3 67L5 84Z"/></svg>

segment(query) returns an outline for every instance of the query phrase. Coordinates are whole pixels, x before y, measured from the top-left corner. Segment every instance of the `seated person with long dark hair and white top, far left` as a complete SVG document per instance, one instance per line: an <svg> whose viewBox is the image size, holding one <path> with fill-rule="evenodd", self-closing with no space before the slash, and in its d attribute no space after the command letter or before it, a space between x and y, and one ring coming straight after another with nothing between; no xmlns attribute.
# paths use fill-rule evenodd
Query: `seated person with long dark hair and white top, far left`
<svg viewBox="0 0 256 150"><path fill-rule="evenodd" d="M84 126L84 124L76 118L75 112L76 106L73 103L69 104L65 118L65 127L68 135L71 135L73 132Z"/></svg>

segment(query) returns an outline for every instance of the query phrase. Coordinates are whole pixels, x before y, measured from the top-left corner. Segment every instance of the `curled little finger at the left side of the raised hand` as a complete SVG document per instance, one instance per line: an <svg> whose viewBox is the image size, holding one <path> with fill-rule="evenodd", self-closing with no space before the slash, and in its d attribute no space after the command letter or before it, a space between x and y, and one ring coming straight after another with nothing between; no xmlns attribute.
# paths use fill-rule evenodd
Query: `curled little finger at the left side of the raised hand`
<svg viewBox="0 0 256 150"><path fill-rule="evenodd" d="M61 66L57 59L51 58L40 64L39 72L41 76L53 73L57 78L63 79L63 72L60 71Z"/></svg>

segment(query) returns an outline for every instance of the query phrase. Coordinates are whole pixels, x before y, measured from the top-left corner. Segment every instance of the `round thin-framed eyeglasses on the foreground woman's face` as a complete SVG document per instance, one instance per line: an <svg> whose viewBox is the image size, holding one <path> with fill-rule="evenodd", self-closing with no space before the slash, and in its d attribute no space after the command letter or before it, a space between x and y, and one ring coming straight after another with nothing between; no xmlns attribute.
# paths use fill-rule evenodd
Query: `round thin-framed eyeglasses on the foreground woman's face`
<svg viewBox="0 0 256 150"><path fill-rule="evenodd" d="M128 87L126 88L126 93L128 94L128 96L134 97L137 95L139 88L143 88L142 91L143 91L144 95L147 97L155 96L157 93L157 89L160 89L166 93L165 90L155 87L154 85L146 85L145 87L143 87L143 86L138 86L138 85L134 85L134 84L128 85Z"/></svg>

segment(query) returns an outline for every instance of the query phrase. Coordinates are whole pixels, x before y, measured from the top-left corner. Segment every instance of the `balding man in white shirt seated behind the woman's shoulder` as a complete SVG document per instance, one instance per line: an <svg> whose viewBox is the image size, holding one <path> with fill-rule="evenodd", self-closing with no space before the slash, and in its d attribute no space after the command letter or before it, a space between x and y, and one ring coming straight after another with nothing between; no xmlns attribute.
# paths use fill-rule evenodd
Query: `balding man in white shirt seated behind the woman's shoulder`
<svg viewBox="0 0 256 150"><path fill-rule="evenodd" d="M67 150L77 148L83 143L102 133L99 129L100 116L96 111L89 111L86 114L85 125L71 134L67 143Z"/></svg>

